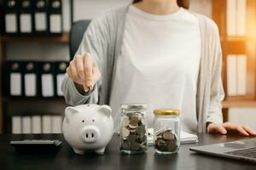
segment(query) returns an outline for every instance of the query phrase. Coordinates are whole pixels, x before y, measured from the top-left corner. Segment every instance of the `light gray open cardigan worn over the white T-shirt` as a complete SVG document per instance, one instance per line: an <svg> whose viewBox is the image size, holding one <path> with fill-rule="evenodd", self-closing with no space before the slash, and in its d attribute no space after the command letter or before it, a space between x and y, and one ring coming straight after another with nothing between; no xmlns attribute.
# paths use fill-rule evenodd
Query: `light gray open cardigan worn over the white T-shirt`
<svg viewBox="0 0 256 170"><path fill-rule="evenodd" d="M96 83L91 94L81 95L74 87L73 81L66 77L61 89L68 105L109 105L111 90L114 90L113 79L117 58L121 53L128 7L108 11L91 21L77 54L90 53L96 60L102 78ZM218 26L204 15L195 16L200 20L201 28L201 64L197 82L196 116L198 132L206 132L207 122L223 122L222 51Z"/></svg>

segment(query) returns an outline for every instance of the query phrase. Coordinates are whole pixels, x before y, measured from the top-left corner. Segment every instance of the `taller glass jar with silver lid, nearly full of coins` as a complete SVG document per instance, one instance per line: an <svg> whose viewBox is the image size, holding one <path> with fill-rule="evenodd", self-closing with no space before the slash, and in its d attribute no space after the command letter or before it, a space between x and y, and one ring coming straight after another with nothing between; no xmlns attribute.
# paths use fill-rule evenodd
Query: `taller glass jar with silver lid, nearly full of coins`
<svg viewBox="0 0 256 170"><path fill-rule="evenodd" d="M121 105L120 150L138 154L147 150L147 105Z"/></svg>

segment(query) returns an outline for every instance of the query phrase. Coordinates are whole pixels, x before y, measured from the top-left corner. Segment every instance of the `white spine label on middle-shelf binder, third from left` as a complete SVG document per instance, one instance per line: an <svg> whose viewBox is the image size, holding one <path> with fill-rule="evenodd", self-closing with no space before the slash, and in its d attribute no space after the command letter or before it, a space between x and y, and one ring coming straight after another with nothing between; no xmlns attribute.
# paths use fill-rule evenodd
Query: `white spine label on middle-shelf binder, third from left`
<svg viewBox="0 0 256 170"><path fill-rule="evenodd" d="M42 75L42 95L44 97L54 96L54 81L52 74Z"/></svg>

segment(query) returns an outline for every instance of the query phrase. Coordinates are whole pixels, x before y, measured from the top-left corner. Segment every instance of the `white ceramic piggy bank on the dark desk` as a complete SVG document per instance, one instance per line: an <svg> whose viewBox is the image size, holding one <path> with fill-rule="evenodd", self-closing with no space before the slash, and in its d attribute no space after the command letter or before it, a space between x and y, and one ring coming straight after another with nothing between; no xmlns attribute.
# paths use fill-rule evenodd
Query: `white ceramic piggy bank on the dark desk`
<svg viewBox="0 0 256 170"><path fill-rule="evenodd" d="M103 155L113 136L111 109L108 105L93 104L67 107L62 130L76 154L93 150Z"/></svg>

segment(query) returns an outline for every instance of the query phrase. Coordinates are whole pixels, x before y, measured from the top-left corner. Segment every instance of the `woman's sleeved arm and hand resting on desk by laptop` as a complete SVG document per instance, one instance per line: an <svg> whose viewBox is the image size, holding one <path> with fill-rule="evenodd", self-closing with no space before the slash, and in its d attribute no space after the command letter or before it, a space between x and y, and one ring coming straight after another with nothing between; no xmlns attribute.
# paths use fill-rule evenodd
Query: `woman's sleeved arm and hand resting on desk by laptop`
<svg viewBox="0 0 256 170"><path fill-rule="evenodd" d="M220 133L226 134L229 132L232 133L240 133L241 135L249 136L253 135L256 136L256 132L245 125L237 125L230 122L223 123L223 114L222 114L222 105L221 102L224 99L224 89L223 83L221 78L222 72L222 50L219 40L218 34L218 26L215 25L213 29L213 37L217 38L217 41L213 45L215 50L213 53L215 59L213 59L212 63L212 84L211 84L211 99L210 99L210 106L209 112L207 115L207 132L208 133Z"/></svg>

